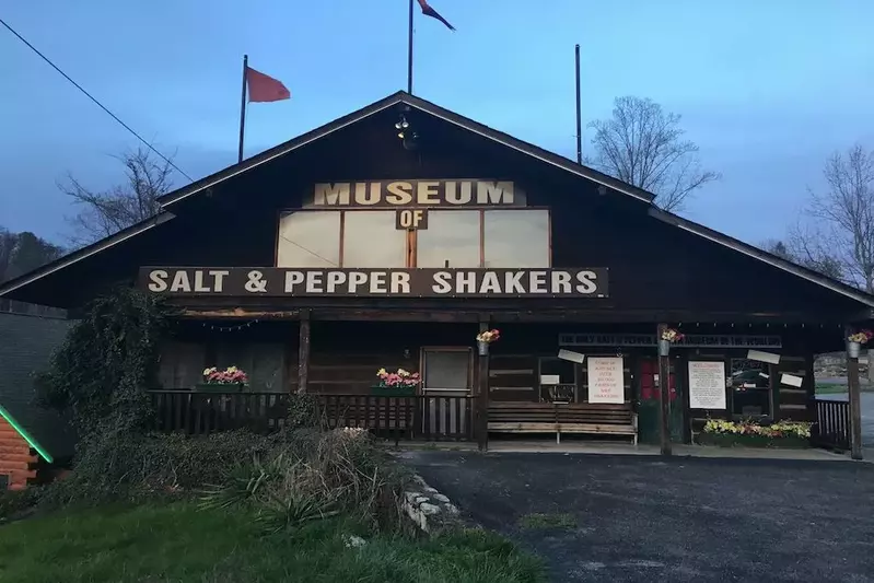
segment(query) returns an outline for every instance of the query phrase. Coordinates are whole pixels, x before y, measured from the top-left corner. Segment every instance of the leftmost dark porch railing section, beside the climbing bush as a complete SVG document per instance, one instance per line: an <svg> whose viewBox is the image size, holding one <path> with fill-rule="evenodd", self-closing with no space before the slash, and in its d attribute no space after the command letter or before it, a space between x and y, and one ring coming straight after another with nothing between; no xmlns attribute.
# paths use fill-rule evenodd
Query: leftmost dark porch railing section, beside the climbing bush
<svg viewBox="0 0 874 583"><path fill-rule="evenodd" d="M287 393L198 393L152 390L155 431L184 431L208 435L217 431L248 429L270 433L282 428L288 416Z"/></svg>

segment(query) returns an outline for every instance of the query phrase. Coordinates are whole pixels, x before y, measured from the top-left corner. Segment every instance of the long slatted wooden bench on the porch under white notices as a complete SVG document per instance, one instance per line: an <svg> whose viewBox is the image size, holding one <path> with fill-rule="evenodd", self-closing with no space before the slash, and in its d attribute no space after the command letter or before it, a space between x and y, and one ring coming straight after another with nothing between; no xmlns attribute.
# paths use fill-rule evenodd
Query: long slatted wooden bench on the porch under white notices
<svg viewBox="0 0 874 583"><path fill-rule="evenodd" d="M490 403L489 431L496 433L562 433L627 435L638 444L638 418L631 405Z"/></svg>

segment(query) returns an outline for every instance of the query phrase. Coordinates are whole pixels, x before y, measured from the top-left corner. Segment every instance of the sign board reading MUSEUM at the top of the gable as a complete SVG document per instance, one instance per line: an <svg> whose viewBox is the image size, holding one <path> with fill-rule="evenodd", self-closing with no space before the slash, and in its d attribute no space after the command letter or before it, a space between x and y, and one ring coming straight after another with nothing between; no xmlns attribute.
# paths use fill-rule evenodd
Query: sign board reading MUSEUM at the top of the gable
<svg viewBox="0 0 874 583"><path fill-rule="evenodd" d="M306 207L524 207L525 196L510 180L372 180L319 183Z"/></svg>

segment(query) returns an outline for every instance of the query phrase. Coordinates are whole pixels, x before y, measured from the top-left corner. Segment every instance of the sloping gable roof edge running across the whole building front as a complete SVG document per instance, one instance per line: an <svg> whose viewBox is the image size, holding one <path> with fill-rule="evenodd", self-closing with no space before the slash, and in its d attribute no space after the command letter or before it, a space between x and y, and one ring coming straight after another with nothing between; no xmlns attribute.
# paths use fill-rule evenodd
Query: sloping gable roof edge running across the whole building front
<svg viewBox="0 0 874 583"><path fill-rule="evenodd" d="M294 150L303 148L308 143L317 141L348 126L361 121L374 114L377 114L387 108L398 105L407 105L411 108L419 109L423 113L440 118L448 124L453 124L464 130L467 130L469 132L481 136L482 138L491 140L500 145L510 148L511 150L515 150L525 155L528 155L535 160L538 160L541 163L550 164L572 175L586 178L598 185L608 187L611 190L626 195L641 202L652 205L653 199L655 198L655 196L652 193L648 193L641 188L626 184L617 178L608 176L594 168L590 168L587 166L578 164L576 162L570 159L558 155L553 152L549 152L547 150L544 150L543 148L539 148L532 143L514 138L508 133L490 128L483 124L475 121L465 116L458 115L446 108L440 107L439 105L435 105L431 102L411 95L405 91L398 91L397 93L388 95L387 97L384 97L365 107L362 107L357 112L352 112L348 115L345 115L338 119L335 119L334 121L325 124L324 126L321 126L314 130L303 133L292 140L289 140L275 148L266 150L260 154L257 154L248 160L244 160L238 164L229 166L223 171L217 172L210 176L196 180L187 186L174 190L173 193L168 193L160 197L159 201L161 202L163 210L156 217L148 219L128 229L125 229L124 231L120 231L115 235L112 235L92 245L83 247L82 249L75 250L30 273L25 273L24 276L21 276L13 280L7 281L3 284L0 284L0 296L10 293L13 290L22 288L24 285L27 285L28 283L42 277L45 277L54 271L63 269L65 267L71 264L74 264L79 260L85 259L86 257L95 255L107 247L112 247L116 244L127 241L128 238L131 238L144 231L148 231L149 229L152 229L156 225L160 225L162 223L172 220L174 218L174 214L168 212L167 209L171 209L174 205L176 205L182 200L188 199L190 197L197 196L202 193L209 193L211 187L224 180L233 178L234 176L237 176L240 174L244 174L252 168L266 164L277 158L293 152ZM869 307L874 307L874 295L865 293L851 285L847 285L846 283L834 280L821 273L818 273L811 269L793 264L792 261L788 261L781 257L777 257L776 255L769 254L762 249L759 249L758 247L743 243L734 237L731 237L723 233L719 233L701 224L688 221L676 214L662 211L655 208L654 206L651 206L651 208L649 209L649 213L654 219L664 221L668 224L677 226L678 229L683 229L702 238L720 244L734 252L741 253L742 255L746 255L748 257L768 264L772 267L776 267L780 270L800 277L804 280L821 285L835 293L850 298Z"/></svg>

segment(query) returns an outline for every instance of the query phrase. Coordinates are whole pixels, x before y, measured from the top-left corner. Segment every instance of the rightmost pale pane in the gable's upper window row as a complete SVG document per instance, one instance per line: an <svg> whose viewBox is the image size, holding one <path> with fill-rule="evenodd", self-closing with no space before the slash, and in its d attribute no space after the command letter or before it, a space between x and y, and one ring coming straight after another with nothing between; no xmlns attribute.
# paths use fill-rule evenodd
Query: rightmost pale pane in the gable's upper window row
<svg viewBox="0 0 874 583"><path fill-rule="evenodd" d="M548 210L487 210L482 267L549 267Z"/></svg>

